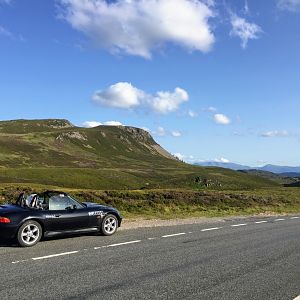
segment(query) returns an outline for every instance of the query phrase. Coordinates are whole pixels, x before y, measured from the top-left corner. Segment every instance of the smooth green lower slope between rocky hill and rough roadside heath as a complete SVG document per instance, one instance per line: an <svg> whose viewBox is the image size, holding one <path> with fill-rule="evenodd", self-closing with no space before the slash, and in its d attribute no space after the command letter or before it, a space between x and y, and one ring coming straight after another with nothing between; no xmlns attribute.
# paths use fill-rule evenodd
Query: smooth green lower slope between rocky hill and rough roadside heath
<svg viewBox="0 0 300 300"><path fill-rule="evenodd" d="M253 189L278 187L278 183L258 176L220 168L0 168L0 183L38 183L83 189Z"/></svg>

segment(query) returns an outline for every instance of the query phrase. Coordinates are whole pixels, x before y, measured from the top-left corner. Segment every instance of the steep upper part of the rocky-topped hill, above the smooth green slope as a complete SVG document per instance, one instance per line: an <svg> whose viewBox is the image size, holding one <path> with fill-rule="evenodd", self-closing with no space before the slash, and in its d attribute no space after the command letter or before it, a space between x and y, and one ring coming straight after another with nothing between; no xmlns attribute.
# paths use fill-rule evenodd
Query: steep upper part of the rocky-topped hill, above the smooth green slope
<svg viewBox="0 0 300 300"><path fill-rule="evenodd" d="M67 120L0 122L0 167L117 167L176 163L139 128L80 128ZM130 167L128 165L128 167Z"/></svg>

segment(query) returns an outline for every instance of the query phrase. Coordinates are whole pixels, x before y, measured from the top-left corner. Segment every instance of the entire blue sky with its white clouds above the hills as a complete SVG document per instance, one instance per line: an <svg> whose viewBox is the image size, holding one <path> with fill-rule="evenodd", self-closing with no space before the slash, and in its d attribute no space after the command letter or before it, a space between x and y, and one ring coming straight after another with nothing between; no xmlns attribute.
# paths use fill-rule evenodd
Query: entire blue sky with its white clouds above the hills
<svg viewBox="0 0 300 300"><path fill-rule="evenodd" d="M300 165L299 28L300 0L0 0L0 119L114 121L190 162Z"/></svg>

